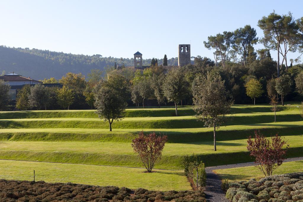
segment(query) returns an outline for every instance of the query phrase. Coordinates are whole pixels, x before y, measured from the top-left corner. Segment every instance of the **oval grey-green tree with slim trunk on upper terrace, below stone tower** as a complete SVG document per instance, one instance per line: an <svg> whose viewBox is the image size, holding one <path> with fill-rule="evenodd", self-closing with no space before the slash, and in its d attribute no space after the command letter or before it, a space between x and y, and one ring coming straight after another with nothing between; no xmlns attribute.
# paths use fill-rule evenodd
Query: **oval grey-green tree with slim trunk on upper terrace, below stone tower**
<svg viewBox="0 0 303 202"><path fill-rule="evenodd" d="M162 84L164 96L168 101L172 101L175 104L176 116L178 116L177 105L179 101L184 99L188 94L188 85L183 68L171 69Z"/></svg>

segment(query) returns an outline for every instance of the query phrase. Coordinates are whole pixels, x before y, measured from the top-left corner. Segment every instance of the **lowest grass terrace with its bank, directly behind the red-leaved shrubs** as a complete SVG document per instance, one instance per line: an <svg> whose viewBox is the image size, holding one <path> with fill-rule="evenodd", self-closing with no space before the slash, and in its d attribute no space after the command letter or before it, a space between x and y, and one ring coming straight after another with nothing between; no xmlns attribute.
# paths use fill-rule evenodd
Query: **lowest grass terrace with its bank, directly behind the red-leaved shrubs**
<svg viewBox="0 0 303 202"><path fill-rule="evenodd" d="M288 157L303 155L303 135L285 136L291 145ZM251 161L246 151L246 139L213 142L167 143L155 168L183 169L183 158L198 154L206 166ZM129 142L50 142L1 141L0 158L10 160L49 161L59 163L142 167Z"/></svg>

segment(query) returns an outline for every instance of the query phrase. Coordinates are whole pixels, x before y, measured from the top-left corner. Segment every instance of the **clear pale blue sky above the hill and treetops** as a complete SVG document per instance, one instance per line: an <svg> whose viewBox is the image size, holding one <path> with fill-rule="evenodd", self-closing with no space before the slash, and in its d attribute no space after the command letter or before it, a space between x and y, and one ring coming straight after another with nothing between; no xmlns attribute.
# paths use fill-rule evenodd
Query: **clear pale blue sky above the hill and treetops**
<svg viewBox="0 0 303 202"><path fill-rule="evenodd" d="M262 16L290 11L298 19L302 6L300 0L2 0L0 45L117 58L140 51L144 59L178 57L178 44L191 44L191 56L213 58L203 44L208 36L251 25L261 38Z"/></svg>

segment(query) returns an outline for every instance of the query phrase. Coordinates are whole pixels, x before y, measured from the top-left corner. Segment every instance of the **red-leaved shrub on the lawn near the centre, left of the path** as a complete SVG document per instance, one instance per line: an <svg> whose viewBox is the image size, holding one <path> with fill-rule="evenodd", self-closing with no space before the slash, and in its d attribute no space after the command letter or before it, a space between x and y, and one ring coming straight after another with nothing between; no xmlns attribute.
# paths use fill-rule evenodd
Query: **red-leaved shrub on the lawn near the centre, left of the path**
<svg viewBox="0 0 303 202"><path fill-rule="evenodd" d="M132 140L134 152L138 153L147 172L151 173L155 162L161 158L162 150L167 141L167 136L157 136L155 133L145 135L139 133L139 137Z"/></svg>

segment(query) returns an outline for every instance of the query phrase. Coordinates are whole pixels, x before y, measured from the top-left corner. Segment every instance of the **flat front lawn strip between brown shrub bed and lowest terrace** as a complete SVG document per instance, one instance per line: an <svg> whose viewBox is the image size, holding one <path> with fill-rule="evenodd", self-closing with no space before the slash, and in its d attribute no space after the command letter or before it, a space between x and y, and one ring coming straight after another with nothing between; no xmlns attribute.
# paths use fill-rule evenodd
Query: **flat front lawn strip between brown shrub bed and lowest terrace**
<svg viewBox="0 0 303 202"><path fill-rule="evenodd" d="M190 190L184 171L154 170L145 173L140 168L106 167L93 165L54 164L0 160L0 178L45 182L72 182L99 186L118 186L148 190Z"/></svg>

